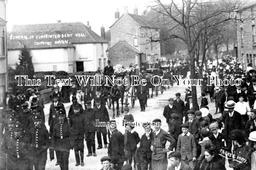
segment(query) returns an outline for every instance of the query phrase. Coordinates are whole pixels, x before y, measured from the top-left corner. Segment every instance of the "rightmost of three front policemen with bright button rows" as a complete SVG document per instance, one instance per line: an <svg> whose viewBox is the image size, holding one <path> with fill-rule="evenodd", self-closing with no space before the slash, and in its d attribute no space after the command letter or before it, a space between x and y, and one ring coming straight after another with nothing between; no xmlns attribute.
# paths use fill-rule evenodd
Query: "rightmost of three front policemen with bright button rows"
<svg viewBox="0 0 256 170"><path fill-rule="evenodd" d="M74 140L71 138L72 130L67 122L66 115L60 112L59 123L53 127L53 145L61 170L68 170L69 150L74 147Z"/></svg>

